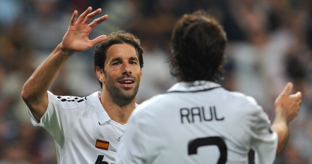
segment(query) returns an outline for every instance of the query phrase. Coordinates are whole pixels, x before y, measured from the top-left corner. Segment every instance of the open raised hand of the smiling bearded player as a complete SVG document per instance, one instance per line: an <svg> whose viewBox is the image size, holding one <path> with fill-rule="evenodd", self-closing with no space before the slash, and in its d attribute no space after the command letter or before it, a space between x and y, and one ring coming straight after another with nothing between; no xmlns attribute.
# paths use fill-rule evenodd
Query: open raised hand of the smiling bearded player
<svg viewBox="0 0 312 164"><path fill-rule="evenodd" d="M101 16L100 18L97 18L88 24L90 20L92 20L101 12L101 9L99 8L93 12L91 11L92 8L88 7L87 10L78 17L77 20L76 18L78 12L76 10L74 11L68 30L61 42L62 51L69 53L85 51L107 38L106 35L101 35L93 40L89 39L91 30L108 18L107 15Z"/></svg>

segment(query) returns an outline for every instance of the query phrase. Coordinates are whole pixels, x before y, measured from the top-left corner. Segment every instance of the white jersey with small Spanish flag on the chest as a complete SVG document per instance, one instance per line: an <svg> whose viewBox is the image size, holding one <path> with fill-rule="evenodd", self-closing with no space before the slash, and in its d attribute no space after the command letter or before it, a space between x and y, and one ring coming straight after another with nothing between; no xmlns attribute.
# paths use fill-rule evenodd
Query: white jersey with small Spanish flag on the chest
<svg viewBox="0 0 312 164"><path fill-rule="evenodd" d="M59 164L111 164L125 125L110 119L95 92L86 98L55 96L48 91L48 107L38 123L53 137ZM137 106L137 104L136 104Z"/></svg>

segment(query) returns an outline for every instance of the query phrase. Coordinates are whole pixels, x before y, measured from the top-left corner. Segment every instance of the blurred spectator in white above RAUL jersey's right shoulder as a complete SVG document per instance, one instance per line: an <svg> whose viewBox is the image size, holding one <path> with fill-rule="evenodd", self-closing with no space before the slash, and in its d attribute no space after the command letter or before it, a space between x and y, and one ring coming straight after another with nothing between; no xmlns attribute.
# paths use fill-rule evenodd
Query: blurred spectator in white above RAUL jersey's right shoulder
<svg viewBox="0 0 312 164"><path fill-rule="evenodd" d="M230 3L246 35L246 42L233 41L228 47L235 63L234 90L256 98L266 112L273 112L274 97L286 84L283 56L291 44L291 35L287 31L269 33L267 4L260 1L238 4L235 0Z"/></svg>

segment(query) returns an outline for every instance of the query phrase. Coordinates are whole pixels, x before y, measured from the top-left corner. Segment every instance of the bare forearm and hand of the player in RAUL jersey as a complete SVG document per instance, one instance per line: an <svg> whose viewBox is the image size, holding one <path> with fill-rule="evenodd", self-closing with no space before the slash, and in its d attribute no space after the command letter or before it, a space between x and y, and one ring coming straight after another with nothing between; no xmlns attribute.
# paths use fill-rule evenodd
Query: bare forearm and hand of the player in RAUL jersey
<svg viewBox="0 0 312 164"><path fill-rule="evenodd" d="M298 115L302 95L300 92L290 94L292 83L287 83L283 92L275 100L275 119L272 129L278 135L278 147L276 154L280 153L289 136L289 122Z"/></svg>

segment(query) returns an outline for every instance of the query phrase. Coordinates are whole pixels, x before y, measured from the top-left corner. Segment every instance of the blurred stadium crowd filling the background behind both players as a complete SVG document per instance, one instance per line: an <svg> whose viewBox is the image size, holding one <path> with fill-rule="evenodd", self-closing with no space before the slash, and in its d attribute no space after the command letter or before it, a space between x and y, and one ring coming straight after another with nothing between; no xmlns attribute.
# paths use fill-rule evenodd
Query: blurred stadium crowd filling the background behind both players
<svg viewBox="0 0 312 164"><path fill-rule="evenodd" d="M31 125L21 89L61 42L74 10L102 8L109 19L90 39L122 29L136 34L144 52L137 102L164 93L176 81L167 62L173 25L198 9L215 16L227 32L222 85L258 101L274 119L274 101L287 81L301 91L299 115L276 164L312 164L311 0L0 0L0 164L55 164L50 134ZM50 91L85 97L100 90L94 48L74 54Z"/></svg>

